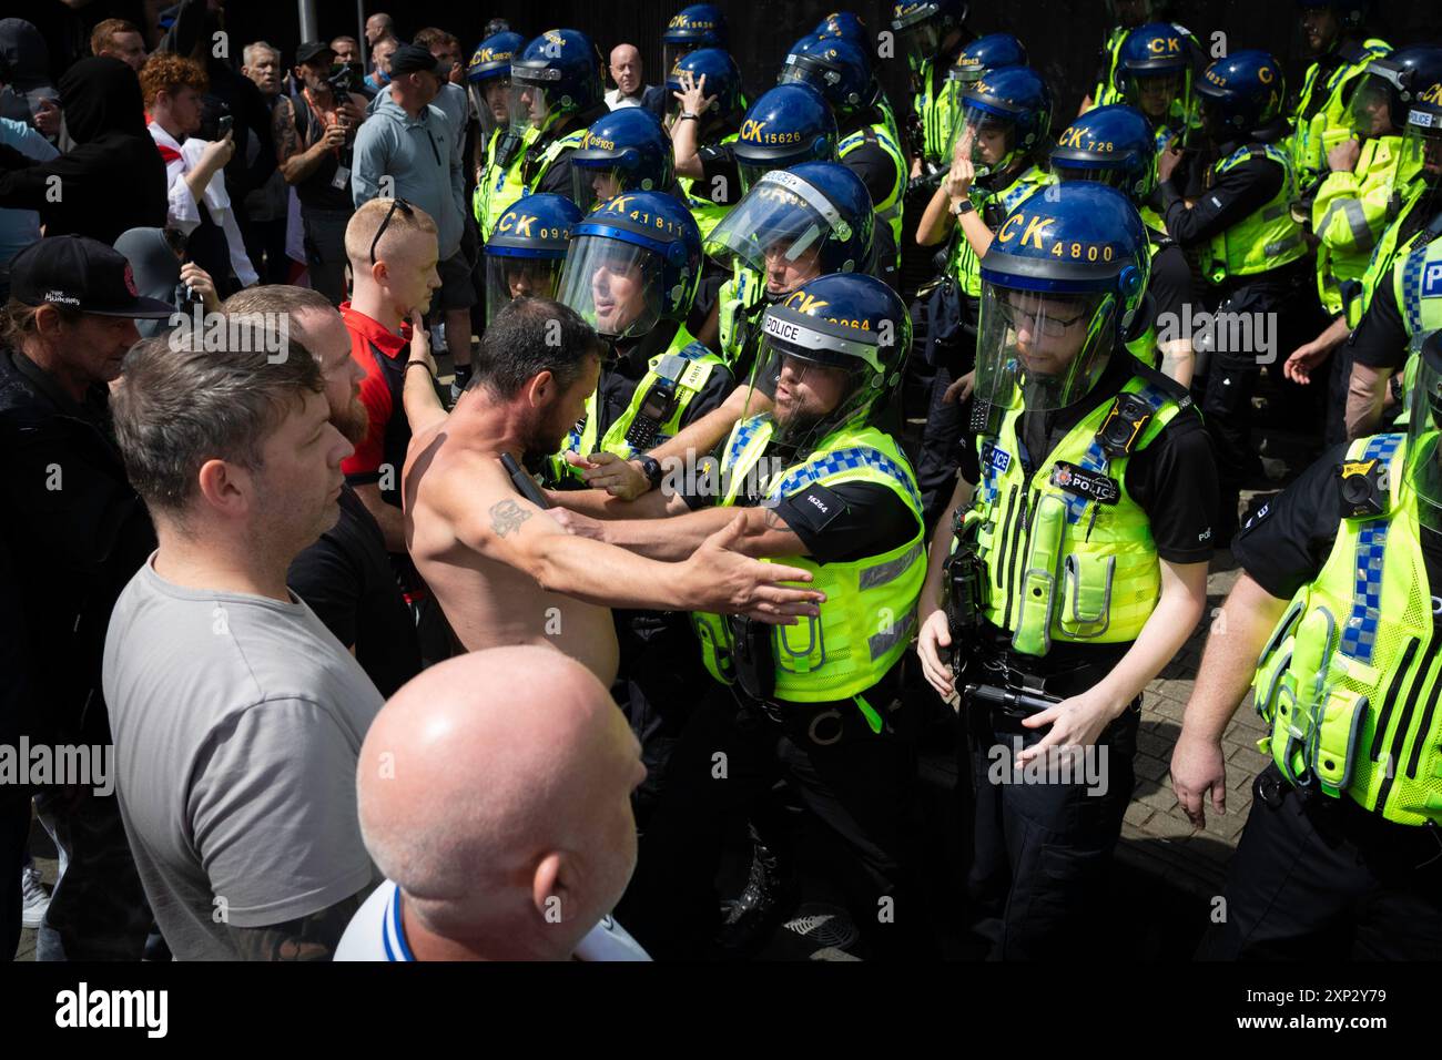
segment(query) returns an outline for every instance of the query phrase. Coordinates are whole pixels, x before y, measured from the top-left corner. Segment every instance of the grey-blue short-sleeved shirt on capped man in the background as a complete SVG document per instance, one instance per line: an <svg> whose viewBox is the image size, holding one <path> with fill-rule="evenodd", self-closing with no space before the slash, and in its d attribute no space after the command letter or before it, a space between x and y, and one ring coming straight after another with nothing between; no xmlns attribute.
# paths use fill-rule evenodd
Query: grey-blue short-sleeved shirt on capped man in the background
<svg viewBox="0 0 1442 1060"><path fill-rule="evenodd" d="M446 112L434 104L412 118L389 92L356 131L350 166L350 198L359 208L376 198L382 177L394 185L388 196L420 206L435 222L440 260L460 248L464 228L466 175L456 150L456 131Z"/></svg>

